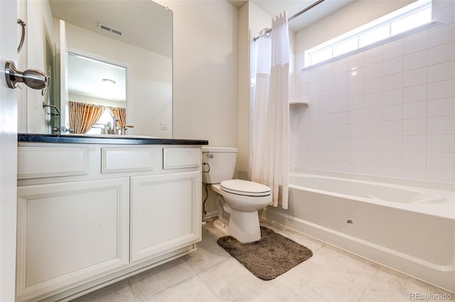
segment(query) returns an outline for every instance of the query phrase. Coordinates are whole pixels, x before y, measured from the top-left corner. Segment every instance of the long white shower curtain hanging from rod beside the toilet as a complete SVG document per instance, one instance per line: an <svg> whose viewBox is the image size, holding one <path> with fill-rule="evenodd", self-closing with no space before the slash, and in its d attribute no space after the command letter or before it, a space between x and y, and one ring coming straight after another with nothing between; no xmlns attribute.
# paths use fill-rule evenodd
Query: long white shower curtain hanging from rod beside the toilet
<svg viewBox="0 0 455 302"><path fill-rule="evenodd" d="M270 40L257 40L252 123L252 181L272 189L287 208L289 191L289 31L287 13L272 19Z"/></svg>

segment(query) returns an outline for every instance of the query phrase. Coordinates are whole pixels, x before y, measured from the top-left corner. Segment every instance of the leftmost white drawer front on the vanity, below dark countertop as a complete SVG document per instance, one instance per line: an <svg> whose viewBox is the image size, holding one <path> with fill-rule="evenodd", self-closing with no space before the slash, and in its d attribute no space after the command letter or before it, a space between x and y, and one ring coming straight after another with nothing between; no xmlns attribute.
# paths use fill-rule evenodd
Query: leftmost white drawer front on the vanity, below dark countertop
<svg viewBox="0 0 455 302"><path fill-rule="evenodd" d="M17 178L88 174L87 147L18 147Z"/></svg>

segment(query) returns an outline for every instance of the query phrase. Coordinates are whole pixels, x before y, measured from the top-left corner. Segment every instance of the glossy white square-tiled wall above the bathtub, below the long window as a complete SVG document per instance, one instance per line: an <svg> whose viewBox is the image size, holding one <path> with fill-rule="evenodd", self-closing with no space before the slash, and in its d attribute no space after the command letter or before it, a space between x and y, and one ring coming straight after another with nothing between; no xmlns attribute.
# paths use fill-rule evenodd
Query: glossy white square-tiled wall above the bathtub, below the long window
<svg viewBox="0 0 455 302"><path fill-rule="evenodd" d="M291 170L455 181L455 3L427 30L303 69L296 55ZM301 70L301 72L299 72Z"/></svg>

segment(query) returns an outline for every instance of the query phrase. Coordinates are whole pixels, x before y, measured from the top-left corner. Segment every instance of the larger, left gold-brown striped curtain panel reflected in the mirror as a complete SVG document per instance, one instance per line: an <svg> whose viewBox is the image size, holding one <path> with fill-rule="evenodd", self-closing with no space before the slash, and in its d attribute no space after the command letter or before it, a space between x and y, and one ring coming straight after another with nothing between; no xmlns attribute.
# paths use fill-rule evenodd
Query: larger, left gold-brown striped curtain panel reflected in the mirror
<svg viewBox="0 0 455 302"><path fill-rule="evenodd" d="M100 119L102 106L94 104L68 102L70 111L70 128L74 129L73 133L87 133L92 125Z"/></svg>

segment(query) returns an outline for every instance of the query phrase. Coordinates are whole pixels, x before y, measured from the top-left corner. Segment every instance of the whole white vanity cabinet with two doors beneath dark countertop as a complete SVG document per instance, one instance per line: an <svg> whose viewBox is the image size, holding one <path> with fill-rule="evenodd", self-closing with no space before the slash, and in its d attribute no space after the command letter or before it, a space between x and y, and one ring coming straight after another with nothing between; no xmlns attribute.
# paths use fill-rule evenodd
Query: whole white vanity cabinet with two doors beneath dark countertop
<svg viewBox="0 0 455 302"><path fill-rule="evenodd" d="M200 154L19 142L17 301L75 298L194 250Z"/></svg>

